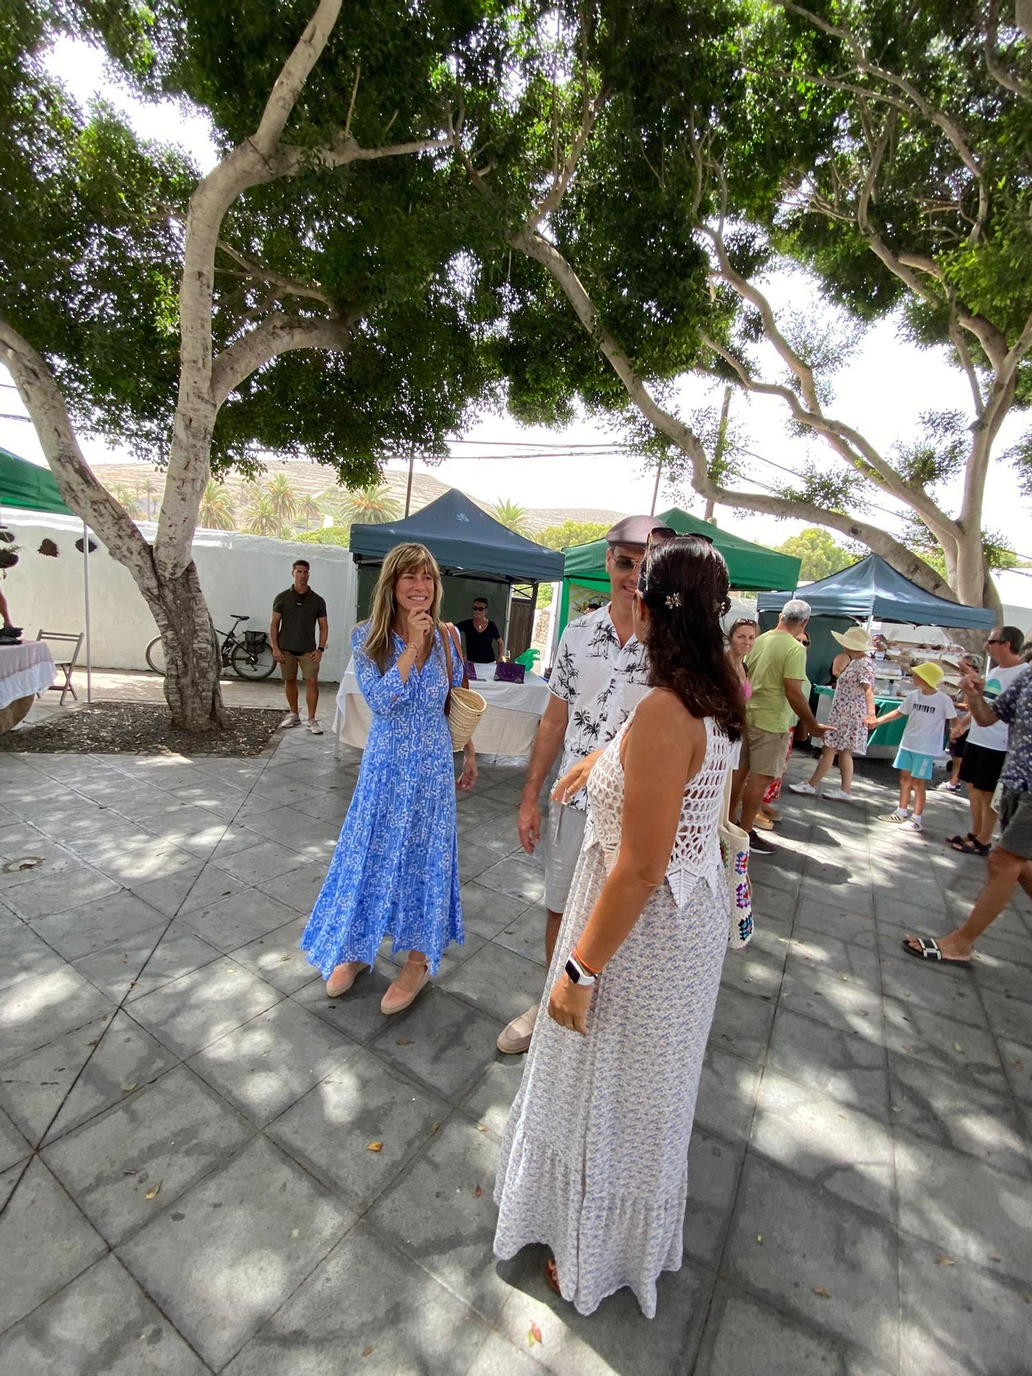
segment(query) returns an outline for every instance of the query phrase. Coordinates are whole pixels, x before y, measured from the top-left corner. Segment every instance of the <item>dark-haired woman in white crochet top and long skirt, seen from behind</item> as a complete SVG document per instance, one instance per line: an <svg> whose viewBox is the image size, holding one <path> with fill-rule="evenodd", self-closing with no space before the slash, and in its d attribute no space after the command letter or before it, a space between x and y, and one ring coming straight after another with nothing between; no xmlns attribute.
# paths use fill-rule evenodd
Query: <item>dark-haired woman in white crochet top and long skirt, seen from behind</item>
<svg viewBox="0 0 1032 1376"><path fill-rule="evenodd" d="M582 1314L629 1285L648 1318L677 1270L688 1141L728 943L717 824L742 691L720 618L728 570L698 538L658 546L634 632L652 692L588 777L589 819L502 1142L495 1254L550 1248Z"/></svg>

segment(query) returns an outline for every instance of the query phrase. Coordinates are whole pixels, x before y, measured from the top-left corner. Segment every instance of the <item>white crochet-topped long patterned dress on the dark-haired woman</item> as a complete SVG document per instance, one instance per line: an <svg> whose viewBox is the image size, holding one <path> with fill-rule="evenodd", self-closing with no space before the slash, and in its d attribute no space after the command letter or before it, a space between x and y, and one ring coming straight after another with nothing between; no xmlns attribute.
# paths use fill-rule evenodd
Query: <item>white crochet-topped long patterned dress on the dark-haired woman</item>
<svg viewBox="0 0 1032 1376"><path fill-rule="evenodd" d="M545 1243L582 1314L629 1285L652 1318L659 1274L681 1265L688 1141L728 947L717 820L731 742L706 720L666 882L603 971L579 1036L548 1017L548 999L616 860L626 729L588 780L583 849L502 1139L494 1251Z"/></svg>

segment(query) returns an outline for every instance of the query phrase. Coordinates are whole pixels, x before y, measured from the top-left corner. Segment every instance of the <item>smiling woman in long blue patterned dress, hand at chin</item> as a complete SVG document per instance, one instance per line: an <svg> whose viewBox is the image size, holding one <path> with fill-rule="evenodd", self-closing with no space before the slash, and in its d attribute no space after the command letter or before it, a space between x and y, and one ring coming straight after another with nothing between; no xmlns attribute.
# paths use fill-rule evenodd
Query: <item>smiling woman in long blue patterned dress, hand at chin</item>
<svg viewBox="0 0 1032 1376"><path fill-rule="evenodd" d="M351 636L355 674L372 722L358 784L329 874L301 937L301 949L337 998L373 965L380 943L409 959L380 1004L407 1009L461 943L455 773L444 716L462 682L458 636L440 622L438 564L422 545L389 552L369 621ZM442 636L451 636L446 654ZM472 743L460 788L476 782Z"/></svg>

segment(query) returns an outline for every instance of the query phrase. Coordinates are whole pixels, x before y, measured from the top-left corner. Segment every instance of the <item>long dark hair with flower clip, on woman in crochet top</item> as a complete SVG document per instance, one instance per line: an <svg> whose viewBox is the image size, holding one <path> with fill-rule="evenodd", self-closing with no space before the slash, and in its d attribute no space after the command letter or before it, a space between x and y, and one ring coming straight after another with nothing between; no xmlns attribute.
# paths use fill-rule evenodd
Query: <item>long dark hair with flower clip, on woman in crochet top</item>
<svg viewBox="0 0 1032 1376"><path fill-rule="evenodd" d="M725 654L728 566L705 539L681 535L649 555L638 593L649 610L649 682L677 694L694 717L713 717L732 740L744 725L742 685Z"/></svg>

